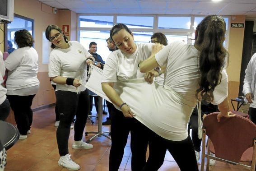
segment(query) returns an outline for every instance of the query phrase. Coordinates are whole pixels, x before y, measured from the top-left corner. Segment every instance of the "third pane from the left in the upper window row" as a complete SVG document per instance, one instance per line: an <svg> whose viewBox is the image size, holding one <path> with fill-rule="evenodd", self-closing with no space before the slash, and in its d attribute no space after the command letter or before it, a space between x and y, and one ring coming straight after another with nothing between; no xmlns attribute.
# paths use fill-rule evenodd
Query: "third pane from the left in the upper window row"
<svg viewBox="0 0 256 171"><path fill-rule="evenodd" d="M159 17L158 28L190 29L191 17Z"/></svg>

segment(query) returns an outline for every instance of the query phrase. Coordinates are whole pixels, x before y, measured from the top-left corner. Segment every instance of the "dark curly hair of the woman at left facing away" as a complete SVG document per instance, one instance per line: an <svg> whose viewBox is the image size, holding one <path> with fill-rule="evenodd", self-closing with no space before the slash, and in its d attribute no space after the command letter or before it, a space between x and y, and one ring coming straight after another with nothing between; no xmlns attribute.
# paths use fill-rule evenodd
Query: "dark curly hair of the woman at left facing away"
<svg viewBox="0 0 256 171"><path fill-rule="evenodd" d="M19 30L14 33L14 42L19 48L33 46L34 39L28 30Z"/></svg>

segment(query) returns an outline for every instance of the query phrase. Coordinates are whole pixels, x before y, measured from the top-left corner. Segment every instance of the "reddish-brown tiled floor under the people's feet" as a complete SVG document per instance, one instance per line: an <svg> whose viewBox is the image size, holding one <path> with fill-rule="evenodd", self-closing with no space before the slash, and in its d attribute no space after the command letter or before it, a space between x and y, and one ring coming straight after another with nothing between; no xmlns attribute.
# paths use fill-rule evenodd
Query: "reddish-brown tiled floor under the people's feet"
<svg viewBox="0 0 256 171"><path fill-rule="evenodd" d="M96 115L96 112L93 111ZM107 116L103 116L103 121ZM96 131L98 129L97 119L94 125L88 120L86 131ZM58 166L59 153L56 143L56 127L54 107L42 109L34 112L33 126L28 139L19 140L7 152L7 166L5 171L65 171ZM110 126L102 126L102 131L107 131ZM108 171L109 151L111 141L105 137L97 137L91 142L92 149L72 149L74 140L74 129L70 130L69 151L74 162L78 163L81 171ZM89 134L85 139L92 137ZM130 138L129 138L130 139ZM182 152L181 152L182 153ZM186 155L186 153L184 153ZM125 154L119 171L129 171L131 152L130 142L125 148ZM200 165L199 165L200 168ZM179 167L170 155L166 154L163 166L159 171L179 171ZM214 171L243 171L236 166L216 162L215 166L210 166Z"/></svg>

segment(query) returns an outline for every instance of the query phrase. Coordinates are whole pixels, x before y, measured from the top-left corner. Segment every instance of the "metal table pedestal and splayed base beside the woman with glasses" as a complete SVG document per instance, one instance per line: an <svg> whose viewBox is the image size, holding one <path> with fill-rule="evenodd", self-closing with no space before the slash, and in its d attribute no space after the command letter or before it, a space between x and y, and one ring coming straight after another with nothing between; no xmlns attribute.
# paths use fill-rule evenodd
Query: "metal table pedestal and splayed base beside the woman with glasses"
<svg viewBox="0 0 256 171"><path fill-rule="evenodd" d="M89 142L91 142L94 138L96 138L96 137L101 137L101 136L107 137L108 139L111 140L111 137L110 137L110 136L105 135L105 134L110 134L109 131L102 132L102 97L100 97L100 96L98 96L98 95L94 95L94 96L97 96L97 97L98 97L98 132L95 132L95 131L85 132L85 135L86 135L86 136L87 136L88 134L95 134L95 135L93 135L92 138L88 139L88 140L86 141L86 143L89 143Z"/></svg>

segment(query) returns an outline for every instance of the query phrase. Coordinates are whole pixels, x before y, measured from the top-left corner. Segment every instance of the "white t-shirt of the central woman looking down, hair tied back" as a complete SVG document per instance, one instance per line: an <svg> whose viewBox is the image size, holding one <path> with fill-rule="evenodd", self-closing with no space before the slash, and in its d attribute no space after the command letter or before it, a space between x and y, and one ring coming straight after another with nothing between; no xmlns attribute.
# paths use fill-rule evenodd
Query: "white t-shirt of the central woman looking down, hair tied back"
<svg viewBox="0 0 256 171"><path fill-rule="evenodd" d="M113 51L107 58L102 73L102 83L114 83L144 77L140 72L139 63L151 55L152 43L136 44L136 51L127 55L121 50Z"/></svg>

